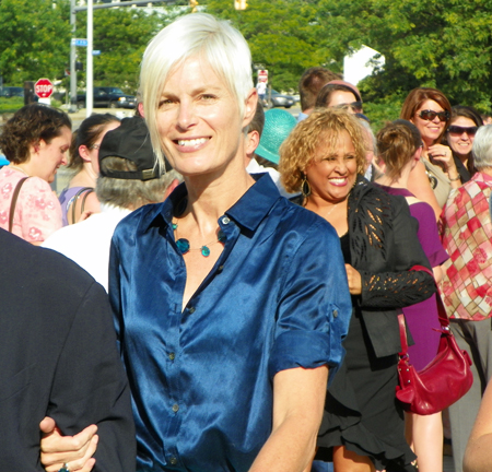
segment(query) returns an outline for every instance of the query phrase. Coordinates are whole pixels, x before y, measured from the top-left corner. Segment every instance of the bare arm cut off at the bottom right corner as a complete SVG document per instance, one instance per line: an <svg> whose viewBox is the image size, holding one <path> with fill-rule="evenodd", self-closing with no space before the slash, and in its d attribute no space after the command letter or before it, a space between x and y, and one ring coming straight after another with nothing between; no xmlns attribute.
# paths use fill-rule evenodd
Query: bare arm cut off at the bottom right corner
<svg viewBox="0 0 492 472"><path fill-rule="evenodd" d="M492 386L490 382L468 440L462 465L464 472L492 470Z"/></svg>

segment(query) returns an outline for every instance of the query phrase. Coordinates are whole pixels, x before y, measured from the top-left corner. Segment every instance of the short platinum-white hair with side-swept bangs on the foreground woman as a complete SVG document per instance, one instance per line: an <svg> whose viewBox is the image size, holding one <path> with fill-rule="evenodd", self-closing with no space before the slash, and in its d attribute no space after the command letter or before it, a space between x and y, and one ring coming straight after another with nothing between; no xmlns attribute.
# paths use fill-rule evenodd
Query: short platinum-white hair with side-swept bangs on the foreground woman
<svg viewBox="0 0 492 472"><path fill-rule="evenodd" d="M164 168L157 108L169 74L191 57L206 59L235 95L243 115L253 88L251 54L243 35L226 21L207 13L181 16L149 44L140 70L140 94L157 162Z"/></svg>

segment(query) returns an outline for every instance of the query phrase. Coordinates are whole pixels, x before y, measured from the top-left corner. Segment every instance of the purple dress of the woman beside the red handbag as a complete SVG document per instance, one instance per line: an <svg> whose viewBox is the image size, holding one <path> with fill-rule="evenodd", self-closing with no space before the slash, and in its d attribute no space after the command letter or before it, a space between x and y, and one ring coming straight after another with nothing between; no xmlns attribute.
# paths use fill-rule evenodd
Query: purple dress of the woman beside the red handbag
<svg viewBox="0 0 492 472"><path fill-rule="evenodd" d="M382 185L379 187L389 194L414 197L413 193L403 188ZM429 262L431 262L431 267L441 266L449 259L449 256L441 244L434 210L425 202L412 203L409 206L410 214L419 222L417 236ZM434 294L424 302L403 308L405 318L415 342L414 345L409 346L409 355L417 370L423 369L437 354L441 334L433 328L440 329L441 323L435 296Z"/></svg>

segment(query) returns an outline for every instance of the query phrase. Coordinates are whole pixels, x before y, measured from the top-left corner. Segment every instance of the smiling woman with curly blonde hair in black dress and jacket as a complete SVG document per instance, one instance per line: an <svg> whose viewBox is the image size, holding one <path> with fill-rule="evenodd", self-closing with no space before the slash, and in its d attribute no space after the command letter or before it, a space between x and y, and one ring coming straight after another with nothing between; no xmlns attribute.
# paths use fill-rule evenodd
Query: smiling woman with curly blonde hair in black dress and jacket
<svg viewBox="0 0 492 472"><path fill-rule="evenodd" d="M340 109L314 111L281 149L289 192L325 217L340 236L353 314L340 371L328 389L318 459L336 472L411 471L403 412L395 398L400 339L397 309L434 292L402 197L364 179L364 138L356 118Z"/></svg>

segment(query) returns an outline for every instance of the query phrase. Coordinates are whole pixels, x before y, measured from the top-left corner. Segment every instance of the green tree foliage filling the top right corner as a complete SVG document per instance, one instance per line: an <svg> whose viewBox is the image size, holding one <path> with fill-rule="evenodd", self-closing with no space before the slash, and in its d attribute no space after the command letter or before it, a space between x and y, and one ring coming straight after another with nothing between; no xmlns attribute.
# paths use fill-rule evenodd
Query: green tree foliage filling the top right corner
<svg viewBox="0 0 492 472"><path fill-rule="evenodd" d="M491 0L320 0L327 46L340 61L365 44L386 57L361 84L366 99L405 98L415 86L442 90L452 104L490 108Z"/></svg>

